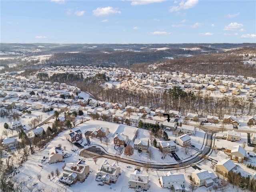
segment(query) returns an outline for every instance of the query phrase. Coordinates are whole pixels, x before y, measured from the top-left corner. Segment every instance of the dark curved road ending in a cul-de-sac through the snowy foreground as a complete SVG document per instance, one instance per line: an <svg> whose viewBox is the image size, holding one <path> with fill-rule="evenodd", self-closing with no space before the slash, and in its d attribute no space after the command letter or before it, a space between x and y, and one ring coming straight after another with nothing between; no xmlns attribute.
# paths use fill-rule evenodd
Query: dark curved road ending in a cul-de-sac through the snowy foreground
<svg viewBox="0 0 256 192"><path fill-rule="evenodd" d="M206 132L207 134L207 139L206 139L206 146L204 147L204 149L198 154L196 155L193 159L191 160L187 160L187 161L182 161L182 164L194 164L198 161L200 161L206 154L208 154L211 150L212 147L212 132ZM127 164L132 164L132 165L136 165L136 166L141 166L144 167L146 163L140 163L131 159L127 159L127 158L120 158L120 157L116 157L110 154L106 154L105 152L103 152L102 150L100 150L99 148L96 148L96 146L94 147L90 147L86 150L82 150L80 152L80 155L83 157L95 157L95 158L100 158L100 157L104 157L104 158L108 158L108 159L112 159L112 160L118 160L119 162L124 162ZM162 164L151 164L150 168L155 168L155 169L170 169L170 168L179 168L180 163L177 164L171 164L168 165L168 163L162 163Z"/></svg>

